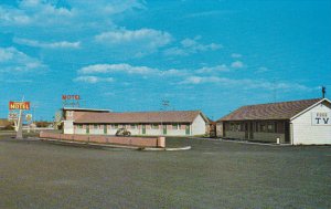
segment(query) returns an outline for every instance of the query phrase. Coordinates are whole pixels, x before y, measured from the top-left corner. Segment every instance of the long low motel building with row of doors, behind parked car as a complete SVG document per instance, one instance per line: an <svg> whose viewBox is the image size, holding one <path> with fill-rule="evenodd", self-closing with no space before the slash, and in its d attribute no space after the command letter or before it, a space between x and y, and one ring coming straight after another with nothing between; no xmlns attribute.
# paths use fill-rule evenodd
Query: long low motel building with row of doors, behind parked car
<svg viewBox="0 0 331 209"><path fill-rule="evenodd" d="M207 118L201 111L126 112L107 109L63 109L64 134L115 135L125 127L131 135L205 135Z"/></svg>

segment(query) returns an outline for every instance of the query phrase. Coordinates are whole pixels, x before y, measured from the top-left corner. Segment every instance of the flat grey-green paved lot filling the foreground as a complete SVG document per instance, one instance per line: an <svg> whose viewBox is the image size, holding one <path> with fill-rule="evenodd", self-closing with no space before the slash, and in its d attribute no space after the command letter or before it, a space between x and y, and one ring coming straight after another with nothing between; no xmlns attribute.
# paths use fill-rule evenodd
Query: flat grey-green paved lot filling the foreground
<svg viewBox="0 0 331 209"><path fill-rule="evenodd" d="M0 208L331 208L330 146L169 139L138 151L0 138Z"/></svg>

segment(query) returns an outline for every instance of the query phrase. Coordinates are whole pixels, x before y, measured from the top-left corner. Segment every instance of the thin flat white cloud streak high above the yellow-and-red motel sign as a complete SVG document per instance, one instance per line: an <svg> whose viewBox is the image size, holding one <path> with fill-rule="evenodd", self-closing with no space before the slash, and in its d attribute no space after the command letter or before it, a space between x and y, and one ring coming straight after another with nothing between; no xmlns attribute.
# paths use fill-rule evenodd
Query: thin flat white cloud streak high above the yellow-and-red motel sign
<svg viewBox="0 0 331 209"><path fill-rule="evenodd" d="M14 38L13 41L19 44L35 46L35 48L46 48L46 49L78 49L81 46L81 42L68 42L68 41L60 41L60 42L41 42L36 40L29 39L19 39Z"/></svg>

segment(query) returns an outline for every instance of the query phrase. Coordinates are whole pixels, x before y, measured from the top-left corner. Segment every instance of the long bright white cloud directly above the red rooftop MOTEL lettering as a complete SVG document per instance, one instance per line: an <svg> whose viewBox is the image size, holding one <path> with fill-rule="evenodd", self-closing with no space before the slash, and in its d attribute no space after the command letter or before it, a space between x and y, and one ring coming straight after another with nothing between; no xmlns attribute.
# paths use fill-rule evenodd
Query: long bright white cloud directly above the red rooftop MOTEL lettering
<svg viewBox="0 0 331 209"><path fill-rule="evenodd" d="M78 70L82 74L96 74L96 73L116 73L122 72L128 74L152 74L158 73L157 69L151 69L148 66L132 66L130 64L94 64L85 66Z"/></svg>

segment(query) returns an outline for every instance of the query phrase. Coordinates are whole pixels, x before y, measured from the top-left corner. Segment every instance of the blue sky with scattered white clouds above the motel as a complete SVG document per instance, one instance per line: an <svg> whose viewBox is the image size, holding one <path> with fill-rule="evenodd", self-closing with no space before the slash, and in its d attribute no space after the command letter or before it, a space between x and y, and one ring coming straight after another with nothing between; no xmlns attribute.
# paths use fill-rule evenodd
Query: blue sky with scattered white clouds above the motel
<svg viewBox="0 0 331 209"><path fill-rule="evenodd" d="M322 85L330 98L330 0L0 0L0 117L23 96L35 119L73 94L212 119Z"/></svg>

